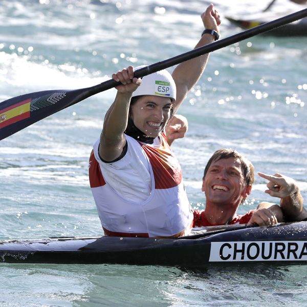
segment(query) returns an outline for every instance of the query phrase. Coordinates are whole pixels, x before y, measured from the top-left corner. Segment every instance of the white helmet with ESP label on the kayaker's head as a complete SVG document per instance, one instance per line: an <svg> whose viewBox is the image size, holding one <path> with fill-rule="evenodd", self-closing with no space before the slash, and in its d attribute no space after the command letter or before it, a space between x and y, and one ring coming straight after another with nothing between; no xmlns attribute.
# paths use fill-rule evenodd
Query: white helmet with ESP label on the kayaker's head
<svg viewBox="0 0 307 307"><path fill-rule="evenodd" d="M138 66L135 70L143 67L146 65ZM142 78L142 84L133 92L132 97L141 95L162 96L176 100L176 84L171 74L164 69Z"/></svg>

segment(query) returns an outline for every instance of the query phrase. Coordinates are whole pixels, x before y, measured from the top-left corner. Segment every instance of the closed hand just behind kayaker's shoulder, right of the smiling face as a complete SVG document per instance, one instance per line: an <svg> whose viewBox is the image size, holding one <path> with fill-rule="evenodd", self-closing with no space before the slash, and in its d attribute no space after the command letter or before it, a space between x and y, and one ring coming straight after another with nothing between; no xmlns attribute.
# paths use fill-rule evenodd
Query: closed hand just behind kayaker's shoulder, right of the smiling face
<svg viewBox="0 0 307 307"><path fill-rule="evenodd" d="M165 134L168 145L176 139L181 139L188 131L188 120L182 115L173 115L165 126Z"/></svg>

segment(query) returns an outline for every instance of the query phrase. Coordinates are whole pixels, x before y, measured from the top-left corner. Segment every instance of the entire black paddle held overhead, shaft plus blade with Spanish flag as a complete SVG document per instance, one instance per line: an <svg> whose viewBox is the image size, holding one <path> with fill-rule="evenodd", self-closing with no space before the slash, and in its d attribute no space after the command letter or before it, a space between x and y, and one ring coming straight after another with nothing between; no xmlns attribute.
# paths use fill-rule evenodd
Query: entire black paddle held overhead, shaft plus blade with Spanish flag
<svg viewBox="0 0 307 307"><path fill-rule="evenodd" d="M204 55L206 53L229 46L238 41L250 38L254 35L264 33L280 26L292 23L295 20L307 16L307 9L278 18L269 23L237 33L227 38L217 40L209 45L193 49L189 52L169 58L167 60L151 64L135 72L135 77L140 78L155 73L162 69ZM98 85L77 90L51 90L34 92L10 98L0 102L0 140L26 128L27 126L61 111L79 101L82 101L97 93L112 89L119 85L113 79Z"/></svg>

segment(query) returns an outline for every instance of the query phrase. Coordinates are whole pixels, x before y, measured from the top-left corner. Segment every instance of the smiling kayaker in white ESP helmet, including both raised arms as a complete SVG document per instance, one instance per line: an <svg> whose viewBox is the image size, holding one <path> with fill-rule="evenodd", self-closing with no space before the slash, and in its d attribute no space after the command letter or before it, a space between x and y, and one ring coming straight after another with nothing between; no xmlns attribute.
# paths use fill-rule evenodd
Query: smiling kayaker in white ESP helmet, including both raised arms
<svg viewBox="0 0 307 307"><path fill-rule="evenodd" d="M196 48L218 38L220 16L211 4ZM181 167L163 133L188 91L202 75L208 54L141 79L134 68L113 74L115 101L90 158L90 183L105 235L177 237L193 214Z"/></svg>

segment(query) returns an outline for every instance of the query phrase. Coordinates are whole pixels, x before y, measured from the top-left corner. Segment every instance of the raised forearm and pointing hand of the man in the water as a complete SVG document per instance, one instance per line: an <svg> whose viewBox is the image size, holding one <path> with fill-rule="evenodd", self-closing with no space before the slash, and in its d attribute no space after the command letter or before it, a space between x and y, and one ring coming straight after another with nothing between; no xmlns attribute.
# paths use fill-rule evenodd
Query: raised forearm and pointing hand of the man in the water
<svg viewBox="0 0 307 307"><path fill-rule="evenodd" d="M268 190L265 192L273 197L280 198L280 208L286 221L297 222L307 218L307 211L303 207L303 197L292 178L278 173L270 176L258 172L258 175L269 180Z"/></svg>

